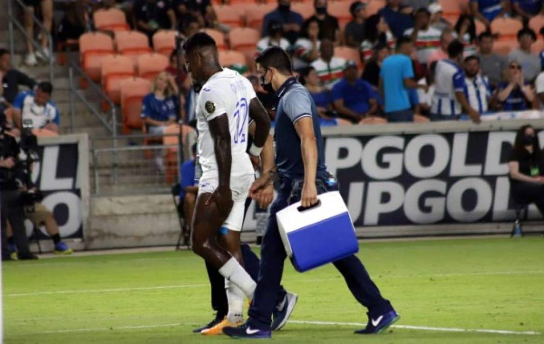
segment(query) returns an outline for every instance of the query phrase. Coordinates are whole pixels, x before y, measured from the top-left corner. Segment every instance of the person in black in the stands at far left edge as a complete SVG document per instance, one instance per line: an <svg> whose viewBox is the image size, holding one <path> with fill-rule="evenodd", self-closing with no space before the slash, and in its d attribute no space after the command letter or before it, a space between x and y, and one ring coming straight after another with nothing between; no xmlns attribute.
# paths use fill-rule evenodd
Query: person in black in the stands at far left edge
<svg viewBox="0 0 544 344"><path fill-rule="evenodd" d="M34 79L23 72L12 68L11 57L6 49L0 48L0 103L6 106L14 102L19 93L19 85L27 86L33 89L36 85ZM3 99L3 100L2 100Z"/></svg>

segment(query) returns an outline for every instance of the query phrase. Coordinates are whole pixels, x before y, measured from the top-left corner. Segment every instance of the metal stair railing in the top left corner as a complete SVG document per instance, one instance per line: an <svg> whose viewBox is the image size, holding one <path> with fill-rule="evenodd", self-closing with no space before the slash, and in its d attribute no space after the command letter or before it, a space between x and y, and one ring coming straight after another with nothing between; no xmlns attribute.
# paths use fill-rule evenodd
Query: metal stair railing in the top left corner
<svg viewBox="0 0 544 344"><path fill-rule="evenodd" d="M24 9L26 8L26 5L24 5L24 3L21 1L21 0L6 0L7 3L8 3L8 18L9 18L9 23L8 23L8 29L9 29L9 50L10 50L10 54L11 56L13 57L15 55L15 33L14 33L14 26L20 31L23 33L24 37L26 37L27 40L30 41L30 43L32 44L32 46L34 46L34 48L37 50L37 51L41 51L42 53L44 53L44 56L45 56L45 51L44 49L41 47L41 45L36 42L34 40L34 37L30 37L28 34L27 34L27 31L26 29L24 28L23 24L21 24L18 20L17 20L17 16L15 15L14 13L14 7L13 7L13 4L11 3L12 1L14 1L16 4L19 5L19 7L24 11ZM42 35L47 35L47 40L48 40L48 49L49 49L49 80L50 82L52 83L53 82L53 79L54 79L54 58L53 58L53 37L51 36L51 32L48 32L48 30L45 28L44 24L41 23L38 18L36 18L36 16L34 14L32 14L32 21L33 21L33 25L36 25L40 28L41 30L41 34Z"/></svg>

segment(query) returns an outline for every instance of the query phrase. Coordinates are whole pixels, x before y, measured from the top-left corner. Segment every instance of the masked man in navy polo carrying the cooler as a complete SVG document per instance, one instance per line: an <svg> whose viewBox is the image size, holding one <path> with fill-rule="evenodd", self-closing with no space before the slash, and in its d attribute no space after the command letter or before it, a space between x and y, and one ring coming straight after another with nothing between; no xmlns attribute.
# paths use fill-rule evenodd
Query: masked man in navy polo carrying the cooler
<svg viewBox="0 0 544 344"><path fill-rule="evenodd" d="M249 319L238 327L225 327L223 332L232 337L270 338L270 317L280 287L283 263L287 258L276 212L301 200L302 207L318 202L318 193L331 191L327 186L324 145L319 129L319 116L310 93L293 77L289 55L281 48L270 47L255 60L262 74L265 90L275 91L276 108L276 168L280 177L278 195L270 208L267 231L261 248L261 266ZM258 199L261 190L270 189L274 173L264 174L251 186L250 195ZM378 287L368 276L361 261L355 256L333 262L344 276L357 301L368 308L368 325L360 334L380 333L399 315L391 303L380 295Z"/></svg>

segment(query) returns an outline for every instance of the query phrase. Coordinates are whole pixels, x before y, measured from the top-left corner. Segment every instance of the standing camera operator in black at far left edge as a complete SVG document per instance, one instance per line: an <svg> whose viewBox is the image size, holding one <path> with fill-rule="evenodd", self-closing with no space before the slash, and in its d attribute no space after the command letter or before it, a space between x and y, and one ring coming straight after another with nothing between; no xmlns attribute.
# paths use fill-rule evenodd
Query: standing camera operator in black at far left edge
<svg viewBox="0 0 544 344"><path fill-rule="evenodd" d="M0 197L2 206L2 260L11 260L7 245L7 221L13 229L18 259L38 259L30 252L28 238L24 229L24 204L21 197L21 180L24 179L24 167L18 160L20 148L12 136L11 128L0 110Z"/></svg>

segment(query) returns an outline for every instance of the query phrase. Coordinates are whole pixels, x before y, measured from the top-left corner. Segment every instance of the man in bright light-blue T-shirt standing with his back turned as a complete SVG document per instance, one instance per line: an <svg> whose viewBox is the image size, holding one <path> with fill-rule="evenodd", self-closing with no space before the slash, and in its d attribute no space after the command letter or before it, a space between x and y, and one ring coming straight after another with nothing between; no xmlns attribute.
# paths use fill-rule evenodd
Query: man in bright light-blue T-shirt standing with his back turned
<svg viewBox="0 0 544 344"><path fill-rule="evenodd" d="M380 70L380 93L385 103L385 115L388 122L413 122L409 89L424 89L414 80L412 59L414 51L409 37L397 40L397 51L388 56Z"/></svg>

